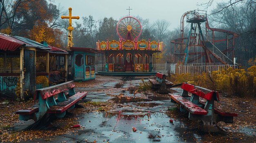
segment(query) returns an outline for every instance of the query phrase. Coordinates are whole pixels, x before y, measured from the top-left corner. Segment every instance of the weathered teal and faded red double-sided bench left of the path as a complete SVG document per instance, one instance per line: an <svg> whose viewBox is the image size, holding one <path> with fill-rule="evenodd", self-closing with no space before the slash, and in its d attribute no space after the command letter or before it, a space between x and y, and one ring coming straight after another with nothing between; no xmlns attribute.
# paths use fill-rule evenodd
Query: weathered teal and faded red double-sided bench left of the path
<svg viewBox="0 0 256 143"><path fill-rule="evenodd" d="M67 109L72 109L79 100L86 98L87 92L75 93L74 81L68 81L55 86L37 89L34 94L34 100L38 100L38 104L31 108L16 111L20 120L34 119L37 121L45 113L55 114L56 117L64 117ZM65 96L68 92L68 98ZM56 96L55 96L56 95Z"/></svg>

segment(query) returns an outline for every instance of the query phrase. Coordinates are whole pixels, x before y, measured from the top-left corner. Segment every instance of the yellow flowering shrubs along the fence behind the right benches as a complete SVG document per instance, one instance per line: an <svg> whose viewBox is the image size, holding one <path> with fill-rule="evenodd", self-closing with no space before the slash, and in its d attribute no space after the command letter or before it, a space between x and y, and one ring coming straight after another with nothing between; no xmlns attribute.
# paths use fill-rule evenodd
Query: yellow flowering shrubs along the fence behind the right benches
<svg viewBox="0 0 256 143"><path fill-rule="evenodd" d="M173 84L188 82L196 86L227 92L239 97L256 97L256 66L245 69L227 68L202 74L177 74L168 79Z"/></svg>

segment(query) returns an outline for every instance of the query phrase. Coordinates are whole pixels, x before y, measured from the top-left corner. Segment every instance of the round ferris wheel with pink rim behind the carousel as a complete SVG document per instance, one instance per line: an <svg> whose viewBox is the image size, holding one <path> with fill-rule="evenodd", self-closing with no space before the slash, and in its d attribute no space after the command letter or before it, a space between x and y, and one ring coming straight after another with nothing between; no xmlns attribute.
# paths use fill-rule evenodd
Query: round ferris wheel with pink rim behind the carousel
<svg viewBox="0 0 256 143"><path fill-rule="evenodd" d="M141 34L141 24L139 20L127 16L117 22L117 34L122 40L135 40Z"/></svg>

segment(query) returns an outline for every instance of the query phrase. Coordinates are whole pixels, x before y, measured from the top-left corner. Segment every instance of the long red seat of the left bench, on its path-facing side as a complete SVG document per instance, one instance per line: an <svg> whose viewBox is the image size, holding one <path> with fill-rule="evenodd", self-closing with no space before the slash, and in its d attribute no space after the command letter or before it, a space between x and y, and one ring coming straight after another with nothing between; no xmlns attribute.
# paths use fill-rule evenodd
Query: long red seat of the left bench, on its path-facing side
<svg viewBox="0 0 256 143"><path fill-rule="evenodd" d="M51 106L47 112L48 113L63 113L65 110L73 106L76 102L81 100L83 97L87 95L87 92L79 92L75 95L72 95L67 100L63 102L57 102L57 105Z"/></svg>

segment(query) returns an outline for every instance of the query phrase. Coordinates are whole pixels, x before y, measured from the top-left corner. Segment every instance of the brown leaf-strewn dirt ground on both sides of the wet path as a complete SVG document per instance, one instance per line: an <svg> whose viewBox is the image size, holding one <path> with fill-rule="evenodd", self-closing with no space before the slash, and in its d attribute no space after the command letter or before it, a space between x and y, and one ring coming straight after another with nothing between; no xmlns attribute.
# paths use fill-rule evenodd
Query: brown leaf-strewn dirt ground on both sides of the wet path
<svg viewBox="0 0 256 143"><path fill-rule="evenodd" d="M107 76L99 76L92 81L87 82L75 82L76 87L86 87L95 88L101 87L103 84L110 81L120 81L120 78L112 78ZM112 89L111 89L112 90ZM107 90L106 90L107 91ZM170 90L175 92L174 90ZM115 92L115 91L111 91ZM155 91L148 91L155 92ZM168 99L168 95L159 95L159 99ZM80 112L104 112L106 110L111 110L115 108L120 108L124 106L122 103L111 103L111 102L101 102L101 103L80 103L82 108L76 108L72 110L67 117L58 119L54 121L55 125L62 125L56 130L47 131L21 131L13 132L10 128L14 123L19 121L18 115L15 111L21 108L28 108L34 105L34 101L31 99L29 101L9 101L6 99L0 99L0 142L20 142L27 140L34 140L44 138L45 141L53 141L53 136L58 136L60 134L68 134L70 132L78 132L79 128L71 128L72 125L76 125L78 117L73 116L74 114L79 114ZM218 126L224 130L224 134L205 134L203 143L255 143L256 142L256 101L255 99L230 97L220 94L220 102L216 103L215 107L222 108L229 112L234 112L238 114L238 117L234 117L234 123L218 123ZM195 122L188 121L188 119L182 117L182 115L177 112L167 112L171 119L183 120L185 125L189 126L191 130L184 132L194 132ZM187 123L187 124L186 124ZM64 126L63 126L64 124ZM195 141L195 143L200 143Z"/></svg>

